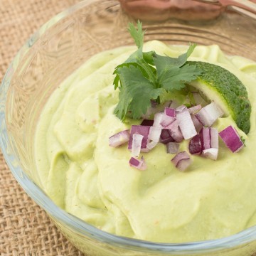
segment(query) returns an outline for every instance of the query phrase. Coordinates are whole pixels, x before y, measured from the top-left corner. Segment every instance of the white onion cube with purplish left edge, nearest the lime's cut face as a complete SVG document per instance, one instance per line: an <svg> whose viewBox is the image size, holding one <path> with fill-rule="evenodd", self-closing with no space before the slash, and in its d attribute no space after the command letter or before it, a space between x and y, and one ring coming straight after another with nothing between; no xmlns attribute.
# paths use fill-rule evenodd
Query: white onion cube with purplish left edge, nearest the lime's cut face
<svg viewBox="0 0 256 256"><path fill-rule="evenodd" d="M210 127L219 117L222 117L223 114L223 110L220 110L220 107L218 107L215 102L211 102L196 114L196 118L204 126Z"/></svg>

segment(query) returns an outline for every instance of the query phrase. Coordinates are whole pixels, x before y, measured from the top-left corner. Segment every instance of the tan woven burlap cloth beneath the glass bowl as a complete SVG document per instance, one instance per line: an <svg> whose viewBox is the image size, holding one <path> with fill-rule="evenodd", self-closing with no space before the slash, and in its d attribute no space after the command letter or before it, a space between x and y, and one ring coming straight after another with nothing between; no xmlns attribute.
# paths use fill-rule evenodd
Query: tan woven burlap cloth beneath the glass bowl
<svg viewBox="0 0 256 256"><path fill-rule="evenodd" d="M23 43L78 0L0 0L0 82ZM0 151L0 255L82 255L28 198Z"/></svg>

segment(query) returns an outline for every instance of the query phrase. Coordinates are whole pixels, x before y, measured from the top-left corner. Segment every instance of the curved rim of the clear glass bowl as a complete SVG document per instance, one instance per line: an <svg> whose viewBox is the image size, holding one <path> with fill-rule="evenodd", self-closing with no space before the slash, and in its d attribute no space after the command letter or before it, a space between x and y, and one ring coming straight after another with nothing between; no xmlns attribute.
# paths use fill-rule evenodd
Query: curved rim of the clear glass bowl
<svg viewBox="0 0 256 256"><path fill-rule="evenodd" d="M105 0L106 1L106 0ZM75 217L65 210L59 208L53 203L53 201L43 192L43 190L34 183L31 178L21 169L21 166L17 166L18 157L15 152L10 151L8 148L9 137L6 129L6 114L5 114L5 102L6 102L6 92L11 84L11 78L15 73L17 63L19 63L22 56L33 46L38 38L45 33L50 27L54 26L63 18L67 18L70 14L75 13L79 9L85 8L87 5L92 3L102 2L101 0L83 0L78 4L71 6L70 8L62 11L60 14L53 16L49 21L43 24L41 28L36 31L36 33L31 36L31 38L26 41L26 43L18 51L14 60L12 60L9 68L4 75L4 78L0 85L0 149L4 155L9 169L16 178L16 181L21 185L21 187L26 191L28 196L30 196L33 201L35 201L39 206L41 206L50 215L50 218L55 218L61 223L67 225L68 227L75 230L76 233L80 235L88 236L92 239L97 239L100 242L109 243L110 245L115 245L117 247L122 247L122 249L127 250L137 250L143 251L148 250L148 252L158 252L163 254L180 255L186 252L188 255L202 252L214 252L217 250L225 250L230 247L238 247L245 245L253 240L256 240L256 225L246 230L242 230L240 233L235 235L230 235L225 238L219 238L215 240L203 240L196 242L181 242L181 243L167 243L167 242L151 242L146 240L138 240L134 238L126 238L119 235L113 235L102 231L95 226L86 223L80 218ZM116 1L118 3L118 1Z"/></svg>

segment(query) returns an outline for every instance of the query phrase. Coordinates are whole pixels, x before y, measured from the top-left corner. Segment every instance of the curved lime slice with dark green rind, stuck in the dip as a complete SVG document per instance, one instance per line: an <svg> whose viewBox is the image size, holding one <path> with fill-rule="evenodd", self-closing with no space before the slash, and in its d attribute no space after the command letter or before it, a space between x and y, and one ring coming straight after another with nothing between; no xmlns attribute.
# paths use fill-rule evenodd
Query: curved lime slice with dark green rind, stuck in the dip
<svg viewBox="0 0 256 256"><path fill-rule="evenodd" d="M203 92L209 100L216 102L225 116L231 115L245 134L250 131L251 105L245 85L230 71L218 65L200 61L188 61L203 73L189 85Z"/></svg>

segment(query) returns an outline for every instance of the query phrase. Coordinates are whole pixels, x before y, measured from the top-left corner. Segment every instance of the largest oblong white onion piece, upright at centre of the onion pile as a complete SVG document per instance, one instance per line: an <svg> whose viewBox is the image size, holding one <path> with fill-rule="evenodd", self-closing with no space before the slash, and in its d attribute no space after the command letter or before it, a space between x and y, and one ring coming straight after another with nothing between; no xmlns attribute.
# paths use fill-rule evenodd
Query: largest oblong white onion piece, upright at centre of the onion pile
<svg viewBox="0 0 256 256"><path fill-rule="evenodd" d="M191 139L196 136L196 128L188 112L187 107L181 105L176 108L176 118L184 139Z"/></svg>

